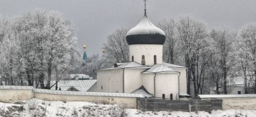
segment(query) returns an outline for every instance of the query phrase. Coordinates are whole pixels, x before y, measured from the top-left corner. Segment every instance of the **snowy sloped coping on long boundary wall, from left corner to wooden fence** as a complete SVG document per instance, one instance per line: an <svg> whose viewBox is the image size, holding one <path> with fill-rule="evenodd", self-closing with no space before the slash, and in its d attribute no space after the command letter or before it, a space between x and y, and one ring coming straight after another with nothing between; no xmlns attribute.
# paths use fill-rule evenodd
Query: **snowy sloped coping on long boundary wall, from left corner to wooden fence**
<svg viewBox="0 0 256 117"><path fill-rule="evenodd" d="M141 97L141 94L132 93L103 93L103 92L74 92L64 90L47 90L47 89L34 89L35 93L49 93L49 94L66 94L77 96L110 96L110 97Z"/></svg>

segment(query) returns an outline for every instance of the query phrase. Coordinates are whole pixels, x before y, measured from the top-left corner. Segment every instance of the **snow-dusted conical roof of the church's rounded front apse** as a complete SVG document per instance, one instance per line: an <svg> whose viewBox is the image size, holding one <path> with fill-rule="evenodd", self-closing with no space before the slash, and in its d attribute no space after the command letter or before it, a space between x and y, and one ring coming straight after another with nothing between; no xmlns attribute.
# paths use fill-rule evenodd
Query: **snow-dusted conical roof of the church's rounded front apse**
<svg viewBox="0 0 256 117"><path fill-rule="evenodd" d="M172 70L171 68L163 64L155 64L149 70L146 70L143 73L160 73L160 72L178 72L178 71Z"/></svg>

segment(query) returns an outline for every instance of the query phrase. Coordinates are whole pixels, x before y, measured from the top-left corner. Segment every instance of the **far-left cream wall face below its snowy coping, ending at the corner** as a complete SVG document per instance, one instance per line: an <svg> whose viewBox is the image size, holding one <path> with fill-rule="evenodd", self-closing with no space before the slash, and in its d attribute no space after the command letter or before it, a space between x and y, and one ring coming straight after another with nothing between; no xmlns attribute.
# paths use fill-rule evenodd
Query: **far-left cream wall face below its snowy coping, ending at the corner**
<svg viewBox="0 0 256 117"><path fill-rule="evenodd" d="M13 101L29 100L34 97L33 90L0 90L0 101L12 103Z"/></svg>

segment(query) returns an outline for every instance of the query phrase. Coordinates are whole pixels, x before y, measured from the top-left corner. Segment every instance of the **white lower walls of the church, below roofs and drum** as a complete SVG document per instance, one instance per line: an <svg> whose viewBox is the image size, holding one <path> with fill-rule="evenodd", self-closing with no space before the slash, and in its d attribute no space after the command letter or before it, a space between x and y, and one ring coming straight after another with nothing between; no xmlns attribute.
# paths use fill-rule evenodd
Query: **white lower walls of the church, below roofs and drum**
<svg viewBox="0 0 256 117"><path fill-rule="evenodd" d="M156 76L155 73L143 73L147 69L148 67L135 67L98 70L96 86L90 92L131 93L144 86L147 92L156 94L156 98L162 98L163 94L165 98L170 98L172 94L173 100L178 99L179 90L186 92L186 68L176 68L181 75L179 72L163 72L156 73Z"/></svg>

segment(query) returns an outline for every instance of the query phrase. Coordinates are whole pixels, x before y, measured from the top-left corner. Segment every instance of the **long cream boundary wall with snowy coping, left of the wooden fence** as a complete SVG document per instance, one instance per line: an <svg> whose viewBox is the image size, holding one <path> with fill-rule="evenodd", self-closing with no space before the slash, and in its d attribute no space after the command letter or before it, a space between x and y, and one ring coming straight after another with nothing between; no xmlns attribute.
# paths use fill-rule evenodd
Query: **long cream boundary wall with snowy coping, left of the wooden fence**
<svg viewBox="0 0 256 117"><path fill-rule="evenodd" d="M127 108L136 108L138 97L142 96L127 93L71 92L46 89L0 89L0 102L6 103L38 98L46 101L87 101L91 103L117 104L125 105Z"/></svg>

